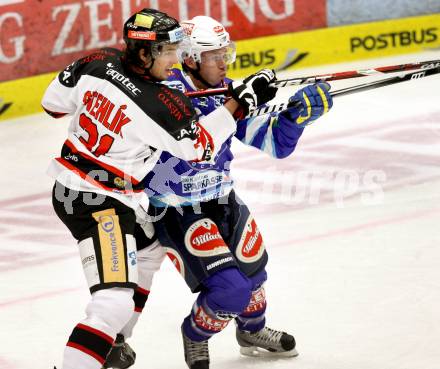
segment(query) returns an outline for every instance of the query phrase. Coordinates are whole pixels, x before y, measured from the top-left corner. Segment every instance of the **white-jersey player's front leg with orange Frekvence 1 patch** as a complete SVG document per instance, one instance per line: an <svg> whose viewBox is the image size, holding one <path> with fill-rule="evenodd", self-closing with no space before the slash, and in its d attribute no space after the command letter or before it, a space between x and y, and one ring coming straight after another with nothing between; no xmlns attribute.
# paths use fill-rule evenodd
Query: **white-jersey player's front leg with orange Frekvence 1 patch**
<svg viewBox="0 0 440 369"><path fill-rule="evenodd" d="M62 369L99 369L116 335L133 314L133 289L137 286L135 215L111 197L91 205L86 199L96 198L96 194L79 192L73 202L63 201L73 197L71 190L56 183L53 206L78 241L92 296L86 317L69 337Z"/></svg>

